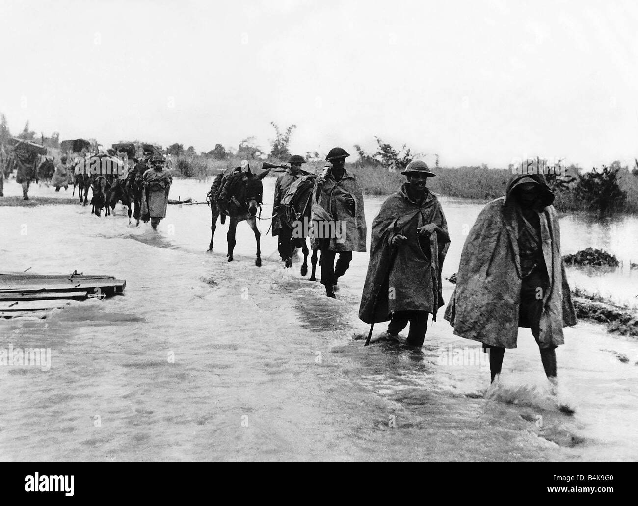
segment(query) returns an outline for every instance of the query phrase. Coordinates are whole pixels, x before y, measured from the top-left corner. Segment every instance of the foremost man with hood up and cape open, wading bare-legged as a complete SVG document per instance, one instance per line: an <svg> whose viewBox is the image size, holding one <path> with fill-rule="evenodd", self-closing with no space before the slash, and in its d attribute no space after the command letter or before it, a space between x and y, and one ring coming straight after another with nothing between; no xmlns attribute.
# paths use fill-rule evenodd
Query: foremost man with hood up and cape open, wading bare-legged
<svg viewBox="0 0 638 506"><path fill-rule="evenodd" d="M483 208L463 246L445 319L456 335L489 349L492 381L505 348L516 348L518 328L527 327L556 385L554 350L576 315L553 201L543 175L517 175L504 197Z"/></svg>

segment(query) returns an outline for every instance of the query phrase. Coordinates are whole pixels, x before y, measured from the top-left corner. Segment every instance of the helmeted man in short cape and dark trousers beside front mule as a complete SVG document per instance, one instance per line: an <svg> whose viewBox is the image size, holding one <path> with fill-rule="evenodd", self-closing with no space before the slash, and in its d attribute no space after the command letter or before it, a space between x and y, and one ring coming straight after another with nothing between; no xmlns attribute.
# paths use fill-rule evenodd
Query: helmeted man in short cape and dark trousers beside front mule
<svg viewBox="0 0 638 506"><path fill-rule="evenodd" d="M355 175L345 168L348 156L343 148L332 148L325 158L329 164L313 189L311 244L322 251L321 282L325 294L332 298L336 297L339 277L350 266L352 252L366 251L363 194Z"/></svg>

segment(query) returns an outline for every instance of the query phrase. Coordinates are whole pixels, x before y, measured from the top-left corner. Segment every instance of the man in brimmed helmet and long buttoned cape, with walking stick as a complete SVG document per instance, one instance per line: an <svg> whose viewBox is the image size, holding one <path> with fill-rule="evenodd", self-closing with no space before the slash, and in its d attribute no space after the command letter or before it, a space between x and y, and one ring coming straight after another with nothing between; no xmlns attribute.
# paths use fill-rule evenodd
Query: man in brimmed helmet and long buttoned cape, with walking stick
<svg viewBox="0 0 638 506"><path fill-rule="evenodd" d="M359 318L366 323L390 320L393 338L410 321L406 343L420 347L429 314L436 321L443 306L441 268L450 237L441 205L426 186L435 174L422 161L401 173L408 182L385 199L372 224Z"/></svg>

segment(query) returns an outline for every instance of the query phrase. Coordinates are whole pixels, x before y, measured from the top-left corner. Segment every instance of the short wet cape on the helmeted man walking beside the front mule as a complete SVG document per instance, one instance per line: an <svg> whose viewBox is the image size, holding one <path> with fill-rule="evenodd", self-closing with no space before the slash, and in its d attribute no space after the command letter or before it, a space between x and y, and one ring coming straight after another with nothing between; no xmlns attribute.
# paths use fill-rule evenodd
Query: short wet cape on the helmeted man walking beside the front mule
<svg viewBox="0 0 638 506"><path fill-rule="evenodd" d="M355 201L354 212L346 205L345 196ZM311 220L316 233L311 235L311 247L316 248L325 231L338 229L330 234L328 249L331 251L366 251L366 217L363 211L363 194L355 175L347 169L343 177L335 180L332 173L323 182L315 182ZM330 226L332 224L332 227Z"/></svg>

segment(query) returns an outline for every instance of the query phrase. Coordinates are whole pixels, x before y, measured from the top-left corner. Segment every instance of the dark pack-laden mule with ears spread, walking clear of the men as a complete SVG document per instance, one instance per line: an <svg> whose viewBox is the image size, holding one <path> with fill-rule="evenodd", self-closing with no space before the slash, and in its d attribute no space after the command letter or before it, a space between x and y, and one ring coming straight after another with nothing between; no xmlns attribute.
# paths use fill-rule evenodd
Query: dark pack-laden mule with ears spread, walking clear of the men
<svg viewBox="0 0 638 506"><path fill-rule="evenodd" d="M269 173L271 169L263 171L260 175L253 173L235 172L228 177L232 178L228 182L229 188L226 195L220 196L219 200L211 199L211 242L208 251L212 251L212 242L215 237L215 229L217 228L217 219L219 215L222 217L228 215L230 224L228 224L228 233L226 234L226 242L228 242L228 252L226 256L228 261L233 261L233 250L235 249L235 231L237 224L241 221L247 221L253 233L255 233L255 241L257 243L257 253L255 265L262 265L262 251L260 249L261 234L257 228L257 211L262 205L263 184L262 179ZM223 223L224 220L221 219Z"/></svg>

